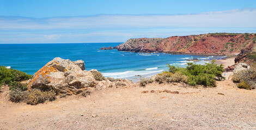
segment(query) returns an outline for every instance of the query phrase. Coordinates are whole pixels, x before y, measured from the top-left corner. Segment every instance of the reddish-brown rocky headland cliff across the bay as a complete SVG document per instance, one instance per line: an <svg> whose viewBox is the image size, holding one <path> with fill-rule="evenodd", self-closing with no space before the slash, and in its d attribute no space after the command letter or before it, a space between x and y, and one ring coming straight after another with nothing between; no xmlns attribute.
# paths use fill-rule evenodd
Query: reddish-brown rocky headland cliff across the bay
<svg viewBox="0 0 256 130"><path fill-rule="evenodd" d="M164 52L172 54L235 55L254 47L256 34L203 34L168 38L135 38L114 49L133 52Z"/></svg>

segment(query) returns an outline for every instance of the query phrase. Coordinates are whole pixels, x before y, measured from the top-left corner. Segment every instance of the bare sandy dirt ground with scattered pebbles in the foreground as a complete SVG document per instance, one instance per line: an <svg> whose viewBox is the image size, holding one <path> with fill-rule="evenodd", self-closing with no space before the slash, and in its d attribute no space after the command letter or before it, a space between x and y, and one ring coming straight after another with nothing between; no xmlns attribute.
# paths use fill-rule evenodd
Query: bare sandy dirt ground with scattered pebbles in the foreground
<svg viewBox="0 0 256 130"><path fill-rule="evenodd" d="M231 81L107 88L36 106L10 102L7 93L0 93L0 129L256 129L256 90Z"/></svg>

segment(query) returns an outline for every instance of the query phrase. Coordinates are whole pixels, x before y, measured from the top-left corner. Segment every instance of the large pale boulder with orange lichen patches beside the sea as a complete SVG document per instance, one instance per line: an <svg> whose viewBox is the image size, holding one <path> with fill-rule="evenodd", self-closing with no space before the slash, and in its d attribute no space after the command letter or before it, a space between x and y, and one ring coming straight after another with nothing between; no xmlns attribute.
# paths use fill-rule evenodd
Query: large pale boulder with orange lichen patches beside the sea
<svg viewBox="0 0 256 130"><path fill-rule="evenodd" d="M28 89L53 89L65 94L81 93L83 89L96 86L93 74L84 69L82 60L72 62L56 57L33 75Z"/></svg>

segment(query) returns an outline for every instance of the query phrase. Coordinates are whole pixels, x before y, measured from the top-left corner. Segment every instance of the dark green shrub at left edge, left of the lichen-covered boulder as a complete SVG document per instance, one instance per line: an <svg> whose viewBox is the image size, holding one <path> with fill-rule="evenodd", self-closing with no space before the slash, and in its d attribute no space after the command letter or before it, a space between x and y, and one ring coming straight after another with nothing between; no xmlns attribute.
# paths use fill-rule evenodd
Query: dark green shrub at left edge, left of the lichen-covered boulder
<svg viewBox="0 0 256 130"><path fill-rule="evenodd" d="M32 75L28 75L24 72L20 72L15 69L8 69L4 66L0 66L0 84L9 85L14 81L22 81L32 79Z"/></svg>

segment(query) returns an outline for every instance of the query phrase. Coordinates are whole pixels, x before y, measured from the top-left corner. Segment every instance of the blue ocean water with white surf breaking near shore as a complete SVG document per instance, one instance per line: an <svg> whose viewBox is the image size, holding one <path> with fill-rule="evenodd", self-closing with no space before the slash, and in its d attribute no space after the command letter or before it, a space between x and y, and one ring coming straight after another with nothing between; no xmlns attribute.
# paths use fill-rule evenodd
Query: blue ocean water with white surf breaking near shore
<svg viewBox="0 0 256 130"><path fill-rule="evenodd" d="M185 67L187 59L221 59L222 56L171 55L164 53L132 53L99 50L120 43L0 44L0 66L34 74L54 57L83 60L86 70L97 69L105 76L131 79L135 75L151 76L167 70L166 64Z"/></svg>

